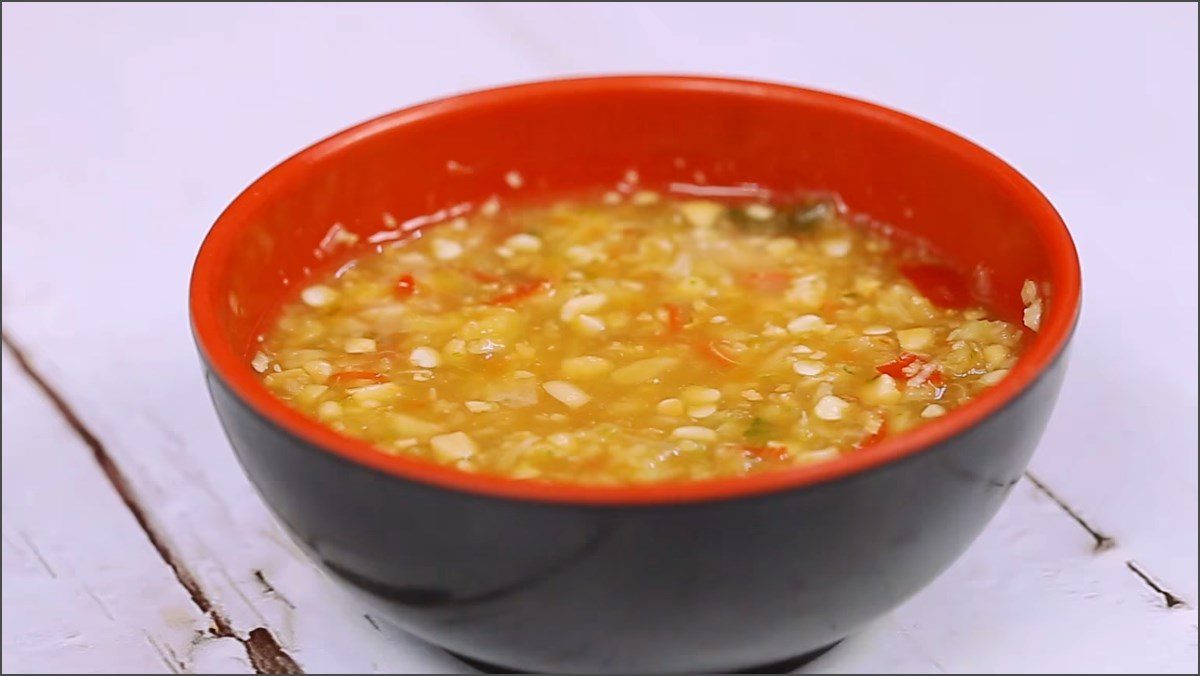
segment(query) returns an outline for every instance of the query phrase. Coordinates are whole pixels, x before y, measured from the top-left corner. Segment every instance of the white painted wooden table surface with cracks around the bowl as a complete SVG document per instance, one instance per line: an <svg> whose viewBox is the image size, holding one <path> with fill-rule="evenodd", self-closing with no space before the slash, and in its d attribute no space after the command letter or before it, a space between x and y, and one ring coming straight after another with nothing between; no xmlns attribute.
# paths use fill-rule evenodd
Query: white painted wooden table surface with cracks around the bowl
<svg viewBox="0 0 1200 676"><path fill-rule="evenodd" d="M566 73L827 88L1054 201L1085 309L988 531L810 671L1196 669L1196 7L4 6L4 670L446 671L305 561L239 471L192 257L292 151Z"/></svg>

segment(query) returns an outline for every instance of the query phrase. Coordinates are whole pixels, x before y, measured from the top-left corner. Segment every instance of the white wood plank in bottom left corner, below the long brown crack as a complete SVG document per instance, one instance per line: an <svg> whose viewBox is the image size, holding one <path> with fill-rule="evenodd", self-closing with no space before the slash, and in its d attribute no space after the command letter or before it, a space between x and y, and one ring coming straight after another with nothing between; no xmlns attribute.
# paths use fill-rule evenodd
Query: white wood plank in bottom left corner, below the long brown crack
<svg viewBox="0 0 1200 676"><path fill-rule="evenodd" d="M4 671L250 672L4 351Z"/></svg>

